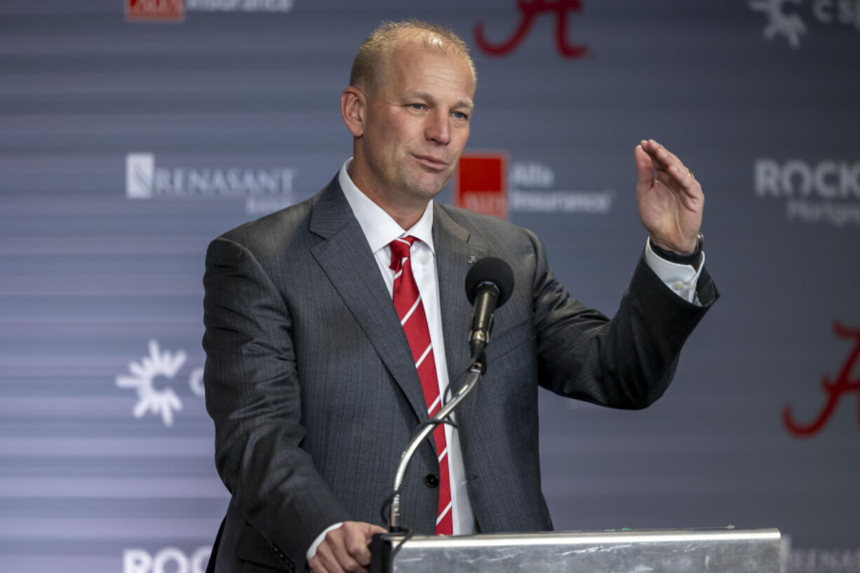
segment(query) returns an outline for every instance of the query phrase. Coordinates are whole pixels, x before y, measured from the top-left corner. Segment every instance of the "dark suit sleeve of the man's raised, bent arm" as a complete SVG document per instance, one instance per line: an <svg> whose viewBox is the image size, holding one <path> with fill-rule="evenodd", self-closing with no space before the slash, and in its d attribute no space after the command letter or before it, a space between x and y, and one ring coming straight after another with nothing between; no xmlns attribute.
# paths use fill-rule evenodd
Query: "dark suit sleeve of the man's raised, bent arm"
<svg viewBox="0 0 860 573"><path fill-rule="evenodd" d="M637 410L662 396L681 347L718 297L710 274L698 280L699 305L667 288L640 257L611 320L573 299L535 249L532 286L540 384L562 396Z"/></svg>

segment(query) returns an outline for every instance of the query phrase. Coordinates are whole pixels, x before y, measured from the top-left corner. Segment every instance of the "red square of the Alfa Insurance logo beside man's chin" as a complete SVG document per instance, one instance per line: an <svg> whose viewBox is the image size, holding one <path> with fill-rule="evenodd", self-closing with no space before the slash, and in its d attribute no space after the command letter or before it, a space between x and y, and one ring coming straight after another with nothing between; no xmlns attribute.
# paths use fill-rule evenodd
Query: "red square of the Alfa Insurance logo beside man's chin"
<svg viewBox="0 0 860 573"><path fill-rule="evenodd" d="M464 153L454 178L454 205L507 219L507 153Z"/></svg>

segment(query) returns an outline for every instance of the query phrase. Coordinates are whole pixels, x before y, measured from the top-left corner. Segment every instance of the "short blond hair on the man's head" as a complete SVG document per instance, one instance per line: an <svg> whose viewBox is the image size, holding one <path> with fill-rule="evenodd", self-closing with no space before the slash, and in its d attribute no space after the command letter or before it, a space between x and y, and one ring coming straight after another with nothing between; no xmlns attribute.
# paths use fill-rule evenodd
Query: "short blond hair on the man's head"
<svg viewBox="0 0 860 573"><path fill-rule="evenodd" d="M456 53L463 56L477 82L475 62L469 54L469 46L449 28L421 20L402 22L382 22L359 46L353 59L353 69L349 74L349 84L359 89L377 88L379 71L383 68L385 56L402 40L413 41L427 50L445 54Z"/></svg>

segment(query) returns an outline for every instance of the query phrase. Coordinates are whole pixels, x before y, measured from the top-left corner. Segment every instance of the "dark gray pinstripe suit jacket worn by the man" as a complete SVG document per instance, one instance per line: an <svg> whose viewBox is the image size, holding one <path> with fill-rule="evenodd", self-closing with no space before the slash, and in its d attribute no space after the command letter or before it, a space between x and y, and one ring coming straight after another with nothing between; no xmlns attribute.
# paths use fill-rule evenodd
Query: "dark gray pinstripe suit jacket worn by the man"
<svg viewBox="0 0 860 573"><path fill-rule="evenodd" d="M550 530L540 489L537 385L615 408L666 390L703 307L671 293L644 262L611 321L570 298L531 231L436 204L433 241L452 385L469 366L470 256L512 263L489 369L459 410L468 490L482 532ZM399 455L427 410L406 337L337 177L312 199L218 237L204 276L206 408L232 499L216 570L302 570L337 521L379 523ZM432 533L431 441L403 491L404 523ZM268 569L271 570L271 569Z"/></svg>

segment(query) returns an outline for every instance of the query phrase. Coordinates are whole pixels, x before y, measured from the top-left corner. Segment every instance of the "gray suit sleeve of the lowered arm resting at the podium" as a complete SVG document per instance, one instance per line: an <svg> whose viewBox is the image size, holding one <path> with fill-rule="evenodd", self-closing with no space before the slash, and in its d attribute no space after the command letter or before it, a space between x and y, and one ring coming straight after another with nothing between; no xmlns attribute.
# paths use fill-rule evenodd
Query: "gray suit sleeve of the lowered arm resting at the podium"
<svg viewBox="0 0 860 573"><path fill-rule="evenodd" d="M246 519L272 545L303 556L350 519L301 447L301 387L286 303L255 256L220 237L203 284L206 410L215 463Z"/></svg>

